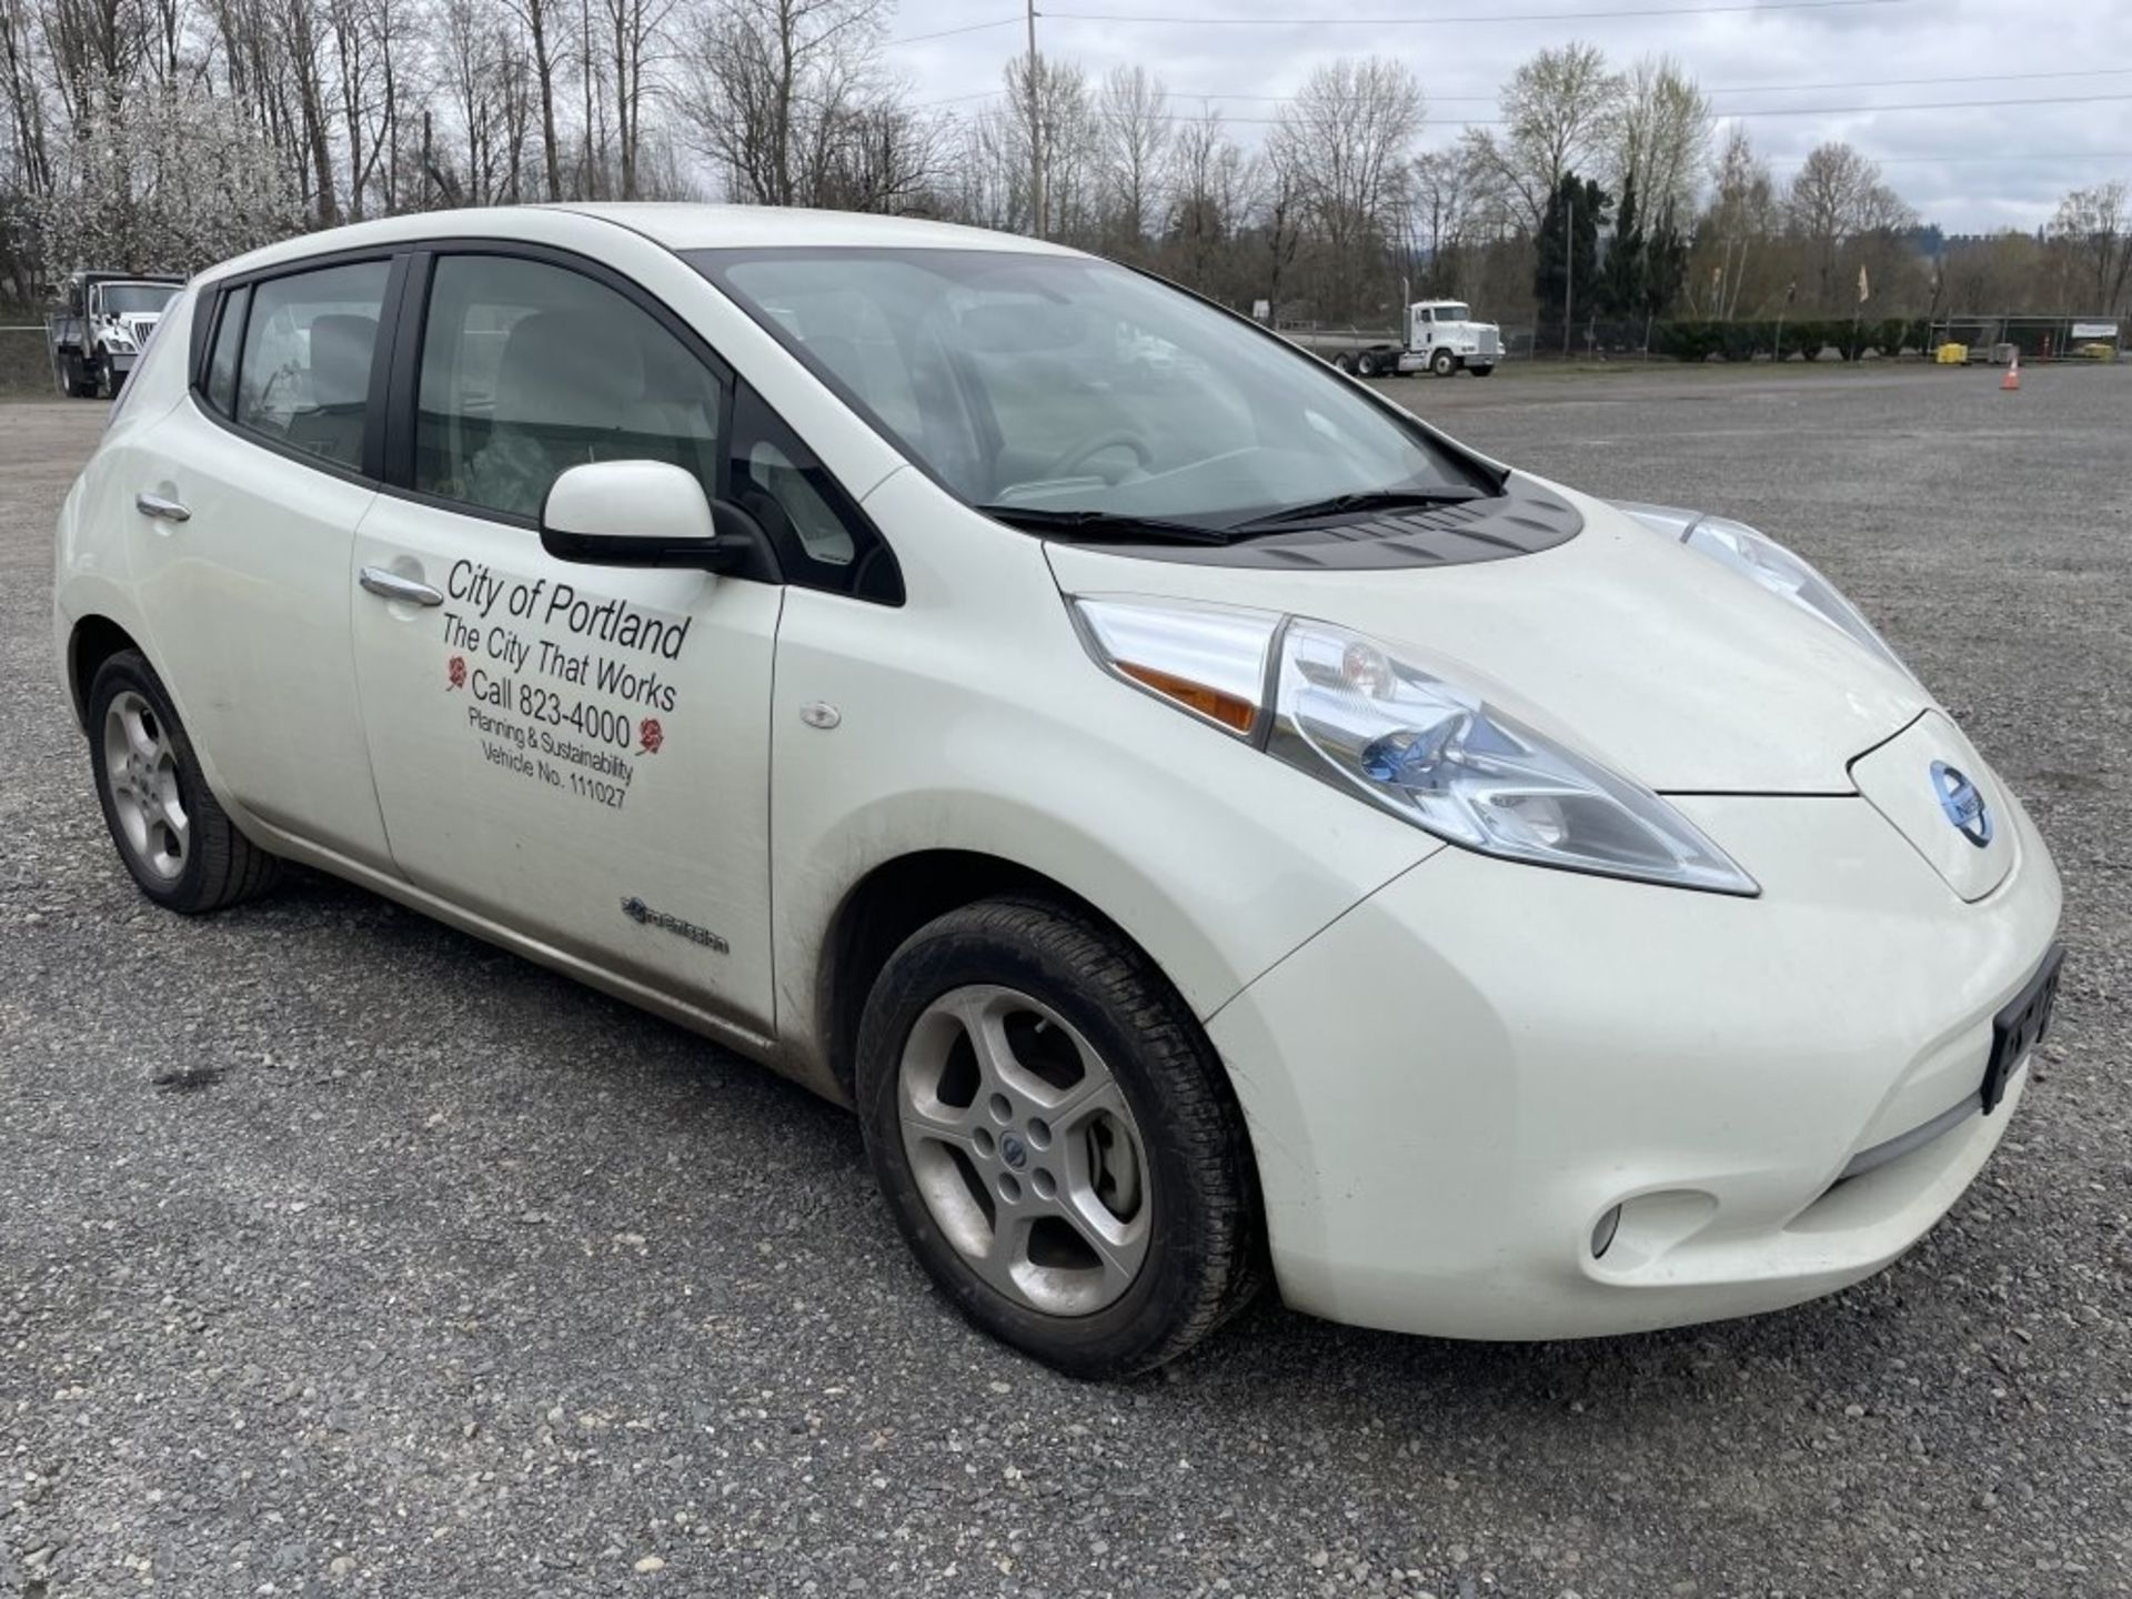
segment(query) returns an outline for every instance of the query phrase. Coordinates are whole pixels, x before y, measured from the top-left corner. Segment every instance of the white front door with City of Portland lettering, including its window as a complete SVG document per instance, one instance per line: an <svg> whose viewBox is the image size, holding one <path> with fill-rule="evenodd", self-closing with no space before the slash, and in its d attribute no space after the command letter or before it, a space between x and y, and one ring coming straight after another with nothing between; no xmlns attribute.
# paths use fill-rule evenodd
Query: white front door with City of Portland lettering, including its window
<svg viewBox="0 0 2132 1599"><path fill-rule="evenodd" d="M565 563L537 533L548 484L586 461L669 461L716 492L731 382L663 316L552 260L439 256L426 307L414 492L371 505L352 571L392 859L768 1034L782 588Z"/></svg>

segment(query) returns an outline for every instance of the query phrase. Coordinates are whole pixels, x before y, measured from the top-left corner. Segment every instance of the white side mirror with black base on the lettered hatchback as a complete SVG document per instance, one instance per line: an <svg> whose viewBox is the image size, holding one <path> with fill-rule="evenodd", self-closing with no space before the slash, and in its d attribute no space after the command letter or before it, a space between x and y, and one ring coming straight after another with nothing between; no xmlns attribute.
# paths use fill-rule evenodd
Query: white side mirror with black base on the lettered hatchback
<svg viewBox="0 0 2132 1599"><path fill-rule="evenodd" d="M593 567L695 567L774 580L770 539L667 461L591 461L548 486L542 548Z"/></svg>

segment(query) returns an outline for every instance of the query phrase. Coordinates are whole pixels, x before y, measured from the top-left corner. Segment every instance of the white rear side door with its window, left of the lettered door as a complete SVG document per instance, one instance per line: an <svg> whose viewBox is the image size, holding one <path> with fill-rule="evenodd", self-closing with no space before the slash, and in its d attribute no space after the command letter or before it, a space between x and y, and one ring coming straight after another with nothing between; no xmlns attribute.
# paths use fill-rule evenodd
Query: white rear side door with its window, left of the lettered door
<svg viewBox="0 0 2132 1599"><path fill-rule="evenodd" d="M356 522L377 497L390 254L226 286L200 382L126 456L156 665L215 780L262 821L386 866L350 650Z"/></svg>

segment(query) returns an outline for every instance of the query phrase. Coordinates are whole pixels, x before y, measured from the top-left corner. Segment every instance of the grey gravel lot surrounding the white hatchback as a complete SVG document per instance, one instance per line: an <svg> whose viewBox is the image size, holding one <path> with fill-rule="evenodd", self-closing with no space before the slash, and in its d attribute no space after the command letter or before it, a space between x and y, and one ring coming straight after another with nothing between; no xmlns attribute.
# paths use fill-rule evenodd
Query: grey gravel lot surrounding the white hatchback
<svg viewBox="0 0 2132 1599"><path fill-rule="evenodd" d="M1917 1251L1669 1335L1264 1303L1051 1377L934 1298L840 1111L328 881L151 910L47 629L98 407L6 405L0 1595L2132 1590L2132 371L1392 392L1795 542L2030 802L2060 1032Z"/></svg>

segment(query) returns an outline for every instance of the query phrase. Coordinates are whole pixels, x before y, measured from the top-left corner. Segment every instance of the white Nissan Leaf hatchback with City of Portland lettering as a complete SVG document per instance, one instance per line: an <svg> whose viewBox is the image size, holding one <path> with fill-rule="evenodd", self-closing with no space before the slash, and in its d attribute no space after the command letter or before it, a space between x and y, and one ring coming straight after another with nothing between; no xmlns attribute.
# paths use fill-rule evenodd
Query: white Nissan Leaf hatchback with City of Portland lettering
<svg viewBox="0 0 2132 1599"><path fill-rule="evenodd" d="M944 1296L1072 1373L1264 1277L1477 1339L1831 1292L1976 1177L2055 991L2021 802L1795 554L1028 239L232 260L55 631L151 900L301 861L855 1104Z"/></svg>

